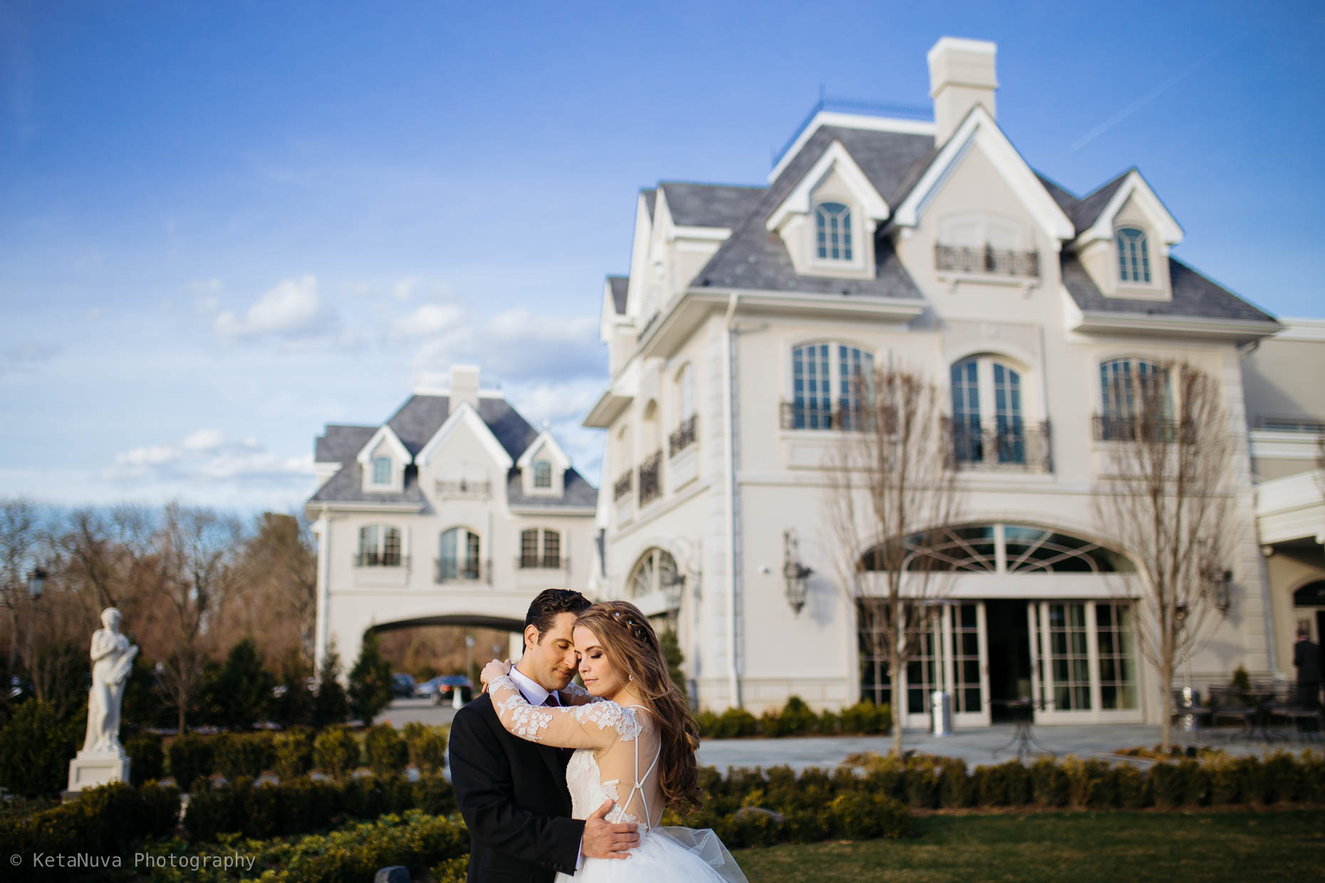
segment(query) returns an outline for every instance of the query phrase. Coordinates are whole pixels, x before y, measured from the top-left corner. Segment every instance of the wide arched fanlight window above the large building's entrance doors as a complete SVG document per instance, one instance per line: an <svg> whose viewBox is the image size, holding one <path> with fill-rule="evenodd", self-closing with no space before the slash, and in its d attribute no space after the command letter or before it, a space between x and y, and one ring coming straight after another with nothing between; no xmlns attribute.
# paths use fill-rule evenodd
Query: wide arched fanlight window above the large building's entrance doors
<svg viewBox="0 0 1325 883"><path fill-rule="evenodd" d="M1118 573L1134 567L1122 555L1061 531L1026 524L962 524L913 534L861 556L861 569L962 573Z"/></svg>

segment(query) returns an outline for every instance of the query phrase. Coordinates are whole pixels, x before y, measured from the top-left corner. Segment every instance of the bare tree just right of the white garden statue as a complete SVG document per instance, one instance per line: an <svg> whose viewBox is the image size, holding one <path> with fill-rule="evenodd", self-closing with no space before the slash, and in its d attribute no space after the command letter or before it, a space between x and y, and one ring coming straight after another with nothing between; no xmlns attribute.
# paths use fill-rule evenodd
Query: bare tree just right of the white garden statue
<svg viewBox="0 0 1325 883"><path fill-rule="evenodd" d="M170 503L158 537L166 573L160 596L174 625L168 651L158 658L162 686L179 711L183 733L211 649L209 620L238 584L242 531L233 516Z"/></svg>

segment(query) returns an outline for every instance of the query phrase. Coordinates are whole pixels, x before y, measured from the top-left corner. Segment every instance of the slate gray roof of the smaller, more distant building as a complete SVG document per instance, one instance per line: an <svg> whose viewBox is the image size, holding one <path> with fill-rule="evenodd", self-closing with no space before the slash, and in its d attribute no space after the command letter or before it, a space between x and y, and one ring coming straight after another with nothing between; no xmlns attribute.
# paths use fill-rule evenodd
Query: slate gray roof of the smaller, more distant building
<svg viewBox="0 0 1325 883"><path fill-rule="evenodd" d="M405 404L396 410L387 421L391 430L396 433L400 442L409 450L411 457L419 454L423 446L436 434L441 425L450 416L449 396L411 396ZM481 397L478 400L478 417L488 425L497 442L505 449L513 461L534 443L538 430L529 425L505 398ZM404 490L399 494L384 494L380 491L364 492L363 469L355 457L364 445L378 432L378 426L346 426L327 425L326 433L314 443L314 459L319 463L339 462L341 470L318 488L309 502L313 503L415 503L420 508L428 506L428 500L419 487L417 470L411 465L405 469ZM511 469L507 477L507 487L519 487L519 470ZM566 473L566 492L562 496L541 496L523 503L511 504L541 506L545 508L580 507L586 506L584 499L590 499L587 506L595 506L598 490L590 485L574 469ZM519 499L525 499L519 495Z"/></svg>

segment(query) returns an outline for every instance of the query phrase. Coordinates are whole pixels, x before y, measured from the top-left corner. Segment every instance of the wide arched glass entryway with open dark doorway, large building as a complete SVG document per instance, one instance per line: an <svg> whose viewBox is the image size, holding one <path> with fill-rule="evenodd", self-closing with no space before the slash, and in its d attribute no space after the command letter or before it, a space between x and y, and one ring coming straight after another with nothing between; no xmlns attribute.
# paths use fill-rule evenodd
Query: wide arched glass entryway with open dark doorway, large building
<svg viewBox="0 0 1325 883"><path fill-rule="evenodd" d="M1134 569L1126 556L1073 532L1010 522L949 526L900 543L901 553L868 549L860 565L878 598L886 596L881 560L930 572L931 627L902 673L908 725L925 725L934 690L951 695L955 723L967 727L999 720L1022 700L1041 721L1142 719L1129 581L1117 579ZM886 702L890 676L872 646L861 634L861 695Z"/></svg>

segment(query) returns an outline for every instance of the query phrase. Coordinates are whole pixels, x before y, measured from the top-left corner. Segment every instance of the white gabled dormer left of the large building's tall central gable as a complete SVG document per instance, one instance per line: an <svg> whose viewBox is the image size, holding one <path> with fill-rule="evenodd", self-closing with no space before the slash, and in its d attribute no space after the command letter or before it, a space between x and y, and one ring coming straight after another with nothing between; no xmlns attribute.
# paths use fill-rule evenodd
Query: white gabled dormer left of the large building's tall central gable
<svg viewBox="0 0 1325 883"><path fill-rule="evenodd" d="M800 275L869 278L874 273L874 229L889 213L888 203L835 140L765 226L782 237Z"/></svg>

